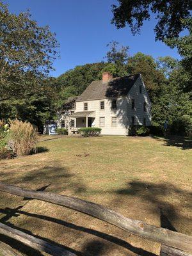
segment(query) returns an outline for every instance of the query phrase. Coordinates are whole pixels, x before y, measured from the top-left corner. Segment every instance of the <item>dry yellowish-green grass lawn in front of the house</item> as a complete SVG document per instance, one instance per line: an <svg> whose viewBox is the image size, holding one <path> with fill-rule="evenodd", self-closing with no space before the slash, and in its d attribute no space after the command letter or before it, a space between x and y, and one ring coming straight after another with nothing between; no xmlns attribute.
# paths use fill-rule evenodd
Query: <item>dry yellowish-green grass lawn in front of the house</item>
<svg viewBox="0 0 192 256"><path fill-rule="evenodd" d="M0 180L90 200L129 218L191 235L190 143L147 137L45 136L38 144L42 152L0 161ZM0 192L0 218L82 255L159 255L159 244L38 200ZM18 243L15 247L27 255L44 255Z"/></svg>

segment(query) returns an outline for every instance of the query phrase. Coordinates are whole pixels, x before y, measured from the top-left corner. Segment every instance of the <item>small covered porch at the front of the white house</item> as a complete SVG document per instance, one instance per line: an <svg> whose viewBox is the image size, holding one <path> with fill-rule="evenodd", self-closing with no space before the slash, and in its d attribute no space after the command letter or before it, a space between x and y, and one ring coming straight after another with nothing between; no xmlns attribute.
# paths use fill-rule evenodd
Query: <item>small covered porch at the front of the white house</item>
<svg viewBox="0 0 192 256"><path fill-rule="evenodd" d="M70 117L75 119L74 127L71 127L72 133L78 131L79 128L95 126L95 111L76 112Z"/></svg>

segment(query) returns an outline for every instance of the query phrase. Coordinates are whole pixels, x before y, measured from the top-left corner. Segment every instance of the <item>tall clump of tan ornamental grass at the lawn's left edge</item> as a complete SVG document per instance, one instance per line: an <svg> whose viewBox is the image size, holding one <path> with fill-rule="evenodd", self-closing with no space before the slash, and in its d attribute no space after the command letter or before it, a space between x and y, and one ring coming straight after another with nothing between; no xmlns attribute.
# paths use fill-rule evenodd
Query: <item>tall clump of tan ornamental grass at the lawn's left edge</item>
<svg viewBox="0 0 192 256"><path fill-rule="evenodd" d="M9 146L17 156L28 155L35 149L37 133L33 125L19 120L10 120Z"/></svg>

